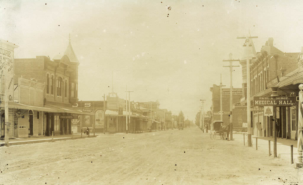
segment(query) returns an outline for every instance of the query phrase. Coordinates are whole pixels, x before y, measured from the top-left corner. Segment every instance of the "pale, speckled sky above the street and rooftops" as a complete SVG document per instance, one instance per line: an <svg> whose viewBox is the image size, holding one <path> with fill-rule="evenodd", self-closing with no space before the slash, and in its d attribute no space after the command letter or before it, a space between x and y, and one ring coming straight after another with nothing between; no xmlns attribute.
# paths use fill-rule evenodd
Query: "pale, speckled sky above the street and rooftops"
<svg viewBox="0 0 303 185"><path fill-rule="evenodd" d="M244 39L237 36L250 29L258 36L256 52L268 37L283 52L303 46L301 0L1 0L0 17L1 39L19 45L15 58L53 59L64 53L71 34L80 100L103 100L112 91L113 72L119 97L125 99L127 85L135 91L131 100L158 99L160 108L182 110L191 120L199 99L206 99L205 111L211 107L209 88L219 85L220 73L229 87L222 60L243 55ZM233 86L241 88L241 67L234 70Z"/></svg>

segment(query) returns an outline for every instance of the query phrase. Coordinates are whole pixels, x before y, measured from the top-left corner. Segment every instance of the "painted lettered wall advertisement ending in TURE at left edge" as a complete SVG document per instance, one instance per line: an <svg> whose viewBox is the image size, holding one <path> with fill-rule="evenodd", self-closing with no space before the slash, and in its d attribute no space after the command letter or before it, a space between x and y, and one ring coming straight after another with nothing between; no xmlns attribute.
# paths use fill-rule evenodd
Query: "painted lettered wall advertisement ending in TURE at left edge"
<svg viewBox="0 0 303 185"><path fill-rule="evenodd" d="M5 71L6 70L6 71ZM14 101L14 51L0 46L0 82L6 81L8 101ZM4 101L4 86L0 85L0 100Z"/></svg>

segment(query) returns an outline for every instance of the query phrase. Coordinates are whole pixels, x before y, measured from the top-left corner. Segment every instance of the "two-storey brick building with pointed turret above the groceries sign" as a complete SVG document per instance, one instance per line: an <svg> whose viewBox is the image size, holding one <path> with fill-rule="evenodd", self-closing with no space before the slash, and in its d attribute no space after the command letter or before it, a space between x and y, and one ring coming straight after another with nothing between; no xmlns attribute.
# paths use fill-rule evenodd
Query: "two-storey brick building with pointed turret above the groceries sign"
<svg viewBox="0 0 303 185"><path fill-rule="evenodd" d="M72 49L69 39L68 47L61 59L50 60L46 56L31 59L15 59L14 81L18 86L18 78L35 79L45 84L43 106L55 111L45 111L43 117L43 133L51 135L70 134L72 125L82 120L81 115L94 115L73 107L78 102L78 65L79 61ZM23 95L22 90L20 97ZM35 112L33 112L33 116ZM69 117L68 117L69 116ZM74 117L72 117L74 116ZM76 118L78 119L71 119Z"/></svg>

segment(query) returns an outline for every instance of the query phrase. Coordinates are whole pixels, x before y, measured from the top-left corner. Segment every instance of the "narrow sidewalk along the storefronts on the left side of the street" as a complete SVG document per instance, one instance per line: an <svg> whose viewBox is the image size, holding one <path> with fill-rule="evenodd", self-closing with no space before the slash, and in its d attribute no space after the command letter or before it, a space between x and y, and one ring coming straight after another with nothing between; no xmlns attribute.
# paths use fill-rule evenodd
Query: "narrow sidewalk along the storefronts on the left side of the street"
<svg viewBox="0 0 303 185"><path fill-rule="evenodd" d="M98 136L95 134L95 137ZM82 138L86 138L88 135L82 134ZM94 137L93 133L89 134L89 137ZM71 140L72 135L57 135L53 137L53 141L61 141L61 140ZM81 139L81 134L77 133L73 135L73 139ZM9 146L11 145L22 145L22 144L31 144L31 143L43 143L43 142L51 142L52 136L36 136L36 137L28 137L28 138L10 138L8 140ZM5 140L0 140L0 146L5 145Z"/></svg>

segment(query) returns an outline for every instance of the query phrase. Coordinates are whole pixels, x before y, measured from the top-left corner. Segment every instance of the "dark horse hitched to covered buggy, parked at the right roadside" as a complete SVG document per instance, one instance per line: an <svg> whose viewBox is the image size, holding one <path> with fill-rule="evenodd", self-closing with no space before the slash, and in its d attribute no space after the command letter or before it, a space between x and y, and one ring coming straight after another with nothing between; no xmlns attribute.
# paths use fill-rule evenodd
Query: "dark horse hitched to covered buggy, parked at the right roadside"
<svg viewBox="0 0 303 185"><path fill-rule="evenodd" d="M223 121L213 121L211 124L211 130L209 132L210 139L214 140L216 135L219 135L221 139L228 140L230 131L230 125L225 126Z"/></svg>

